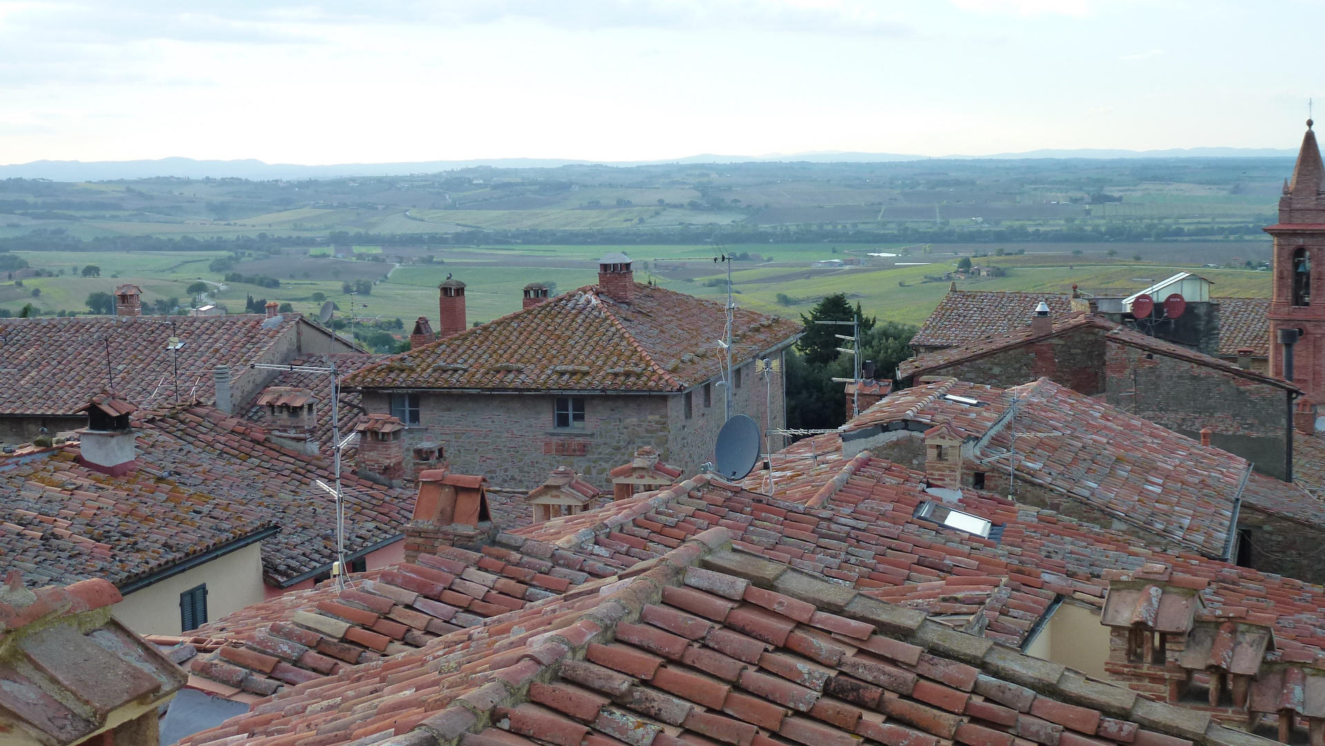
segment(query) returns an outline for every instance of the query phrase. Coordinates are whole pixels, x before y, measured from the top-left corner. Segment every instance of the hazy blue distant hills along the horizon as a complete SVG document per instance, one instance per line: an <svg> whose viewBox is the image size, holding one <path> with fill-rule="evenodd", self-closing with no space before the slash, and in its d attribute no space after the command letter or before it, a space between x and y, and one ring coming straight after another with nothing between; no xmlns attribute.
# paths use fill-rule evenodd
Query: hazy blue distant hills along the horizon
<svg viewBox="0 0 1325 746"><path fill-rule="evenodd" d="M1292 158L1296 150L1194 147L1170 150L1032 150L1027 152L1000 152L995 155L945 155L942 159L1043 159L1043 158ZM423 160L412 163L341 163L333 166L301 166L293 163L264 163L244 160L195 160L192 158L162 158L158 160L33 160L0 166L0 179L50 179L52 182L101 182L114 179L148 179L152 176L180 176L188 179L238 178L270 179L335 179L343 176L400 176L408 174L436 174L457 168L492 166L498 168L556 168L571 164L652 166L662 163L753 163L753 162L815 162L815 163L882 163L898 160L925 160L928 155L890 152L795 152L767 155L700 154L668 160L619 160L558 158L489 158L473 160Z"/></svg>

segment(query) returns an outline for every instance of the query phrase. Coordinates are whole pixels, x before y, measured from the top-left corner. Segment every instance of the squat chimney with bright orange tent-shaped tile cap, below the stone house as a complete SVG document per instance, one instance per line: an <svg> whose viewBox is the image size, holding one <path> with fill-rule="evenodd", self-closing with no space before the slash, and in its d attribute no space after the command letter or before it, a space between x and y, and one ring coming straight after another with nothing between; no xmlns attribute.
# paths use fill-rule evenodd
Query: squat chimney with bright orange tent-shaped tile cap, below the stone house
<svg viewBox="0 0 1325 746"><path fill-rule="evenodd" d="M488 480L429 469L419 474L419 498L405 525L405 562L439 547L477 549L492 541L496 527L488 510Z"/></svg>

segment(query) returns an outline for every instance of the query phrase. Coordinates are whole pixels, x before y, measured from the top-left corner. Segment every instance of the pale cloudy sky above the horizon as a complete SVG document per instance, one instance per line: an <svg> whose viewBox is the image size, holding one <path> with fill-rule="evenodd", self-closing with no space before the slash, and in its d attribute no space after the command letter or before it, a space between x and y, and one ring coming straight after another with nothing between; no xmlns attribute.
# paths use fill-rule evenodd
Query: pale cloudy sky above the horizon
<svg viewBox="0 0 1325 746"><path fill-rule="evenodd" d="M0 163L1295 147L1322 29L1308 0L0 0Z"/></svg>

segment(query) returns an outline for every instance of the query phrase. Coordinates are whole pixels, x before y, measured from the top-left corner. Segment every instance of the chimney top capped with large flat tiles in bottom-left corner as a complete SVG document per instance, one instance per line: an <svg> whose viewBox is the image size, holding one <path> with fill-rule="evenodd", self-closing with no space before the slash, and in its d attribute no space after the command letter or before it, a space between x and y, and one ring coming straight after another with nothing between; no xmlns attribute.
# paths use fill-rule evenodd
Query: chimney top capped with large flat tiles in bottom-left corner
<svg viewBox="0 0 1325 746"><path fill-rule="evenodd" d="M24 588L11 570L0 588L0 731L7 742L76 743L171 697L184 672L105 607L121 600L102 579Z"/></svg>

